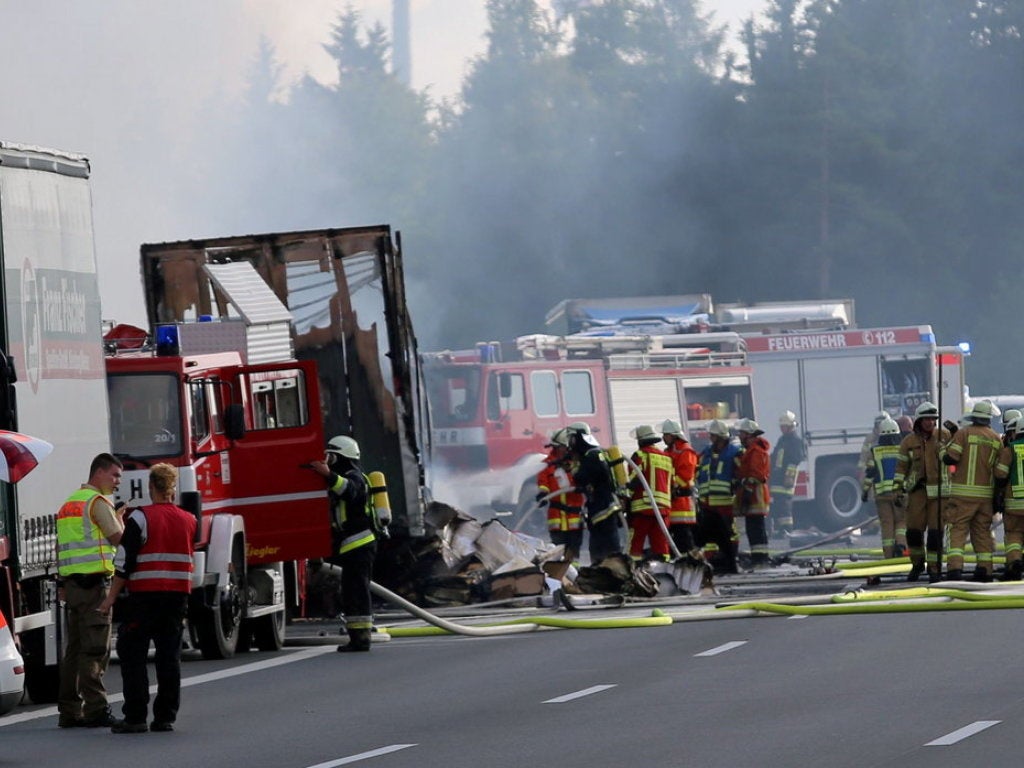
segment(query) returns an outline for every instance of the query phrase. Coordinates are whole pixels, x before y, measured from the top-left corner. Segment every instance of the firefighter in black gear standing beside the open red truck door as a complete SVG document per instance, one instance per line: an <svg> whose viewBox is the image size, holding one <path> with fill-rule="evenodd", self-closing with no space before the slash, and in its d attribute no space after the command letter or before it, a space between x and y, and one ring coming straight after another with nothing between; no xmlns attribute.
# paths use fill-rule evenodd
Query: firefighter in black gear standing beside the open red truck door
<svg viewBox="0 0 1024 768"><path fill-rule="evenodd" d="M334 531L332 562L341 566L341 602L348 643L342 653L370 650L374 626L373 579L377 525L370 507L370 480L359 465L359 444L347 435L332 437L323 460L310 468L327 480Z"/></svg>

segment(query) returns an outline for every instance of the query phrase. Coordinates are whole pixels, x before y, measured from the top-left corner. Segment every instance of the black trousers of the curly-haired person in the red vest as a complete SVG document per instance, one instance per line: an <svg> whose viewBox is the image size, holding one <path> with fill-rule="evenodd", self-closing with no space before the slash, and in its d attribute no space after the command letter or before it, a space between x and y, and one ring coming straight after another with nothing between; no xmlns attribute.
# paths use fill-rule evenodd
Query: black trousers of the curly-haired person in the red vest
<svg viewBox="0 0 1024 768"><path fill-rule="evenodd" d="M127 723L144 723L150 708L150 643L156 649L157 697L153 719L173 723L181 703L181 634L188 595L184 592L139 592L124 600L118 627L118 659Z"/></svg>

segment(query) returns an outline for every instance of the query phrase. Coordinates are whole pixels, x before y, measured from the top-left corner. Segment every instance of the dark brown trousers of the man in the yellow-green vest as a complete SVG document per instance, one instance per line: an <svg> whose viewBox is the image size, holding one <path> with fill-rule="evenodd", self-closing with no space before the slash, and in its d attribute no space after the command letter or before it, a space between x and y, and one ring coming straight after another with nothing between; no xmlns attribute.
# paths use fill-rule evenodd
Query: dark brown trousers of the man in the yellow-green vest
<svg viewBox="0 0 1024 768"><path fill-rule="evenodd" d="M111 615L96 608L106 598L108 581L81 587L71 578L65 580L65 606L68 616L68 646L60 660L60 686L57 712L86 720L106 712L106 688L103 674L111 660Z"/></svg>

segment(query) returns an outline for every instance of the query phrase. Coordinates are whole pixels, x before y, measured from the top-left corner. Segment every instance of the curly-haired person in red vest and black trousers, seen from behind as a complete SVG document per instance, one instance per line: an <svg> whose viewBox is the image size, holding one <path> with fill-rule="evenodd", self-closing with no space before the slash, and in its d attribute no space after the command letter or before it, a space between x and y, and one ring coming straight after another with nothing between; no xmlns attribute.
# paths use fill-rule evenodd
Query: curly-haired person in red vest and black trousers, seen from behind
<svg viewBox="0 0 1024 768"><path fill-rule="evenodd" d="M172 731L181 703L181 635L191 593L193 542L196 516L174 504L178 471L170 464L150 469L151 504L133 509L114 563L111 592L99 606L110 614L114 601L127 589L124 618L118 627L118 660L125 701L114 733ZM156 650L157 697L153 723L146 656Z"/></svg>

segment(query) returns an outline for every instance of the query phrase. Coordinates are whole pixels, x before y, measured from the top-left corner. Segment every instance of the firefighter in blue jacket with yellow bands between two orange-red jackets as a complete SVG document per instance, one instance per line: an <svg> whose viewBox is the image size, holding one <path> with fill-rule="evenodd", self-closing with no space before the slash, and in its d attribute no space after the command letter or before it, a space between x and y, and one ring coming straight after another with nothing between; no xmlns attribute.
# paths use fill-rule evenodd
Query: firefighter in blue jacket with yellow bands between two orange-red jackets
<svg viewBox="0 0 1024 768"><path fill-rule="evenodd" d="M708 425L710 442L697 463L697 489L700 510L697 516L698 545L717 547L715 568L723 573L738 573L736 551L739 536L733 524L733 481L739 466L739 445L729 435L728 425L714 419ZM710 550L711 548L709 548Z"/></svg>

